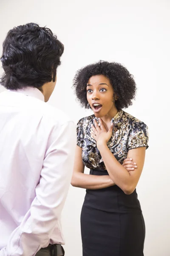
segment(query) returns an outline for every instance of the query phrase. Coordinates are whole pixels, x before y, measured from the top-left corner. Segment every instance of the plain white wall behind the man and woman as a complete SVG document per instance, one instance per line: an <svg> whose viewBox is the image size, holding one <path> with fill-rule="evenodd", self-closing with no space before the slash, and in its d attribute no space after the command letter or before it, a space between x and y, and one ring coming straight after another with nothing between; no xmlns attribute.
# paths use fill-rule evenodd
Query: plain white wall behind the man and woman
<svg viewBox="0 0 170 256"><path fill-rule="evenodd" d="M65 45L49 103L75 123L91 114L80 108L71 89L77 69L102 59L120 62L134 75L138 93L126 111L144 121L150 131L137 186L146 224L144 255L170 256L170 1L0 0L0 52L8 30L28 22L46 25ZM82 255L84 196L84 189L69 190L62 214L66 256Z"/></svg>

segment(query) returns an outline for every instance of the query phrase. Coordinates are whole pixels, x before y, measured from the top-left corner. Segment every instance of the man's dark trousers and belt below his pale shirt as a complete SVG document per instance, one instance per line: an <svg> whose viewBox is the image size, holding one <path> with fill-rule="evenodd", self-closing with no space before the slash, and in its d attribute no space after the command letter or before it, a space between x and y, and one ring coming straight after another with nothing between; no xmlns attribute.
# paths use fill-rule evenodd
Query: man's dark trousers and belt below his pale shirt
<svg viewBox="0 0 170 256"><path fill-rule="evenodd" d="M65 252L61 244L49 244L48 247L41 248L36 256L64 256Z"/></svg>

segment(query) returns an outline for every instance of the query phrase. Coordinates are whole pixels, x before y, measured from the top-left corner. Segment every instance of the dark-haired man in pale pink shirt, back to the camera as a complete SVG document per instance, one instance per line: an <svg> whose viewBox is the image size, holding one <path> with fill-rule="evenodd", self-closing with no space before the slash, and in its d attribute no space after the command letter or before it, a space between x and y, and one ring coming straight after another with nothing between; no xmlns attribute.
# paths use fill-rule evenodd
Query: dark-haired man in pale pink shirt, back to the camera
<svg viewBox="0 0 170 256"><path fill-rule="evenodd" d="M45 103L63 50L50 29L35 23L11 29L3 42L0 256L64 255L60 215L76 134L68 116Z"/></svg>

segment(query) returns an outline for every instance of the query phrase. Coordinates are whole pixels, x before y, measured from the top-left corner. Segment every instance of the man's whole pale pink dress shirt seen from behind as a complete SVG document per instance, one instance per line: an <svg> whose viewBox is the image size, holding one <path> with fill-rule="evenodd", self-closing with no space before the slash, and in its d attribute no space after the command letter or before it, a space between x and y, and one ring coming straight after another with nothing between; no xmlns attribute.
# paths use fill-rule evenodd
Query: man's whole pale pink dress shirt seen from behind
<svg viewBox="0 0 170 256"><path fill-rule="evenodd" d="M8 253L34 255L64 243L59 218L74 145L74 123L47 105L40 90L0 93L0 255L7 255L7 244Z"/></svg>

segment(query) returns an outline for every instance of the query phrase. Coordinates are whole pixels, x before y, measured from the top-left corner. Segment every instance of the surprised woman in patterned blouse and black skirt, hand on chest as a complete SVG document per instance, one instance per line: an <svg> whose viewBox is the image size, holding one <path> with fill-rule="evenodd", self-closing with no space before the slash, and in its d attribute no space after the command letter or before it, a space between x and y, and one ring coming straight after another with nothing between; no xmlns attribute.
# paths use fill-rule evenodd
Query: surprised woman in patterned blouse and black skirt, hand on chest
<svg viewBox="0 0 170 256"><path fill-rule="evenodd" d="M99 61L77 72L74 88L82 106L94 112L77 124L71 182L87 189L83 256L143 256L145 226L136 185L148 147L147 126L122 110L135 97L133 76L121 64Z"/></svg>

